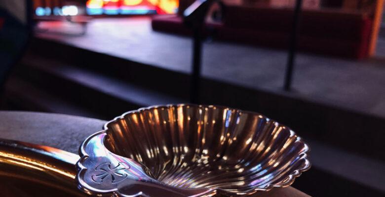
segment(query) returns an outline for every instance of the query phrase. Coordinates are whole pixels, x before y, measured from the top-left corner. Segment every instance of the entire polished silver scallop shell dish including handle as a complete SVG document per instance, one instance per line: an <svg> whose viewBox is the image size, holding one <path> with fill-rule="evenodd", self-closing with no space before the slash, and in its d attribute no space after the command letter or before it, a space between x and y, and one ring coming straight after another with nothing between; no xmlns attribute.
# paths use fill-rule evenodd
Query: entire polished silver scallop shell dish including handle
<svg viewBox="0 0 385 197"><path fill-rule="evenodd" d="M286 187L310 167L308 145L265 116L178 104L130 111L87 138L77 163L88 194L252 195Z"/></svg>

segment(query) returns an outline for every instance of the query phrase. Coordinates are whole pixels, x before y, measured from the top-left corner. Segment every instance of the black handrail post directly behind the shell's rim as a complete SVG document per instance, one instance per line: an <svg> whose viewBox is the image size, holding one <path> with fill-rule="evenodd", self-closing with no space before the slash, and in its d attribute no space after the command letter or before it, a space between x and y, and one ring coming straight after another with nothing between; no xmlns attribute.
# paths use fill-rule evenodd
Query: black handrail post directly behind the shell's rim
<svg viewBox="0 0 385 197"><path fill-rule="evenodd" d="M201 67L201 51L202 38L200 35L200 27L193 29L193 50L192 50L192 75L191 75L191 91L190 101L194 104L199 103L199 83L200 83L200 67Z"/></svg>

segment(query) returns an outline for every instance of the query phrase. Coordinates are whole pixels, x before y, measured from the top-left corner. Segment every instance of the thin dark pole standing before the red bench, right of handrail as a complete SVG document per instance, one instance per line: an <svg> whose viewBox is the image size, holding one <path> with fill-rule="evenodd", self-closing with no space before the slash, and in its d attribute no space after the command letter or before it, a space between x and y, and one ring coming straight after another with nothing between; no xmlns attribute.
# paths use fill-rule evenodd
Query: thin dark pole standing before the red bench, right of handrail
<svg viewBox="0 0 385 197"><path fill-rule="evenodd" d="M285 82L283 86L286 91L290 90L291 82L292 82L293 67L294 67L295 56L297 52L297 39L299 34L299 20L301 15L301 6L302 6L302 0L297 0L294 8L293 26L290 34Z"/></svg>

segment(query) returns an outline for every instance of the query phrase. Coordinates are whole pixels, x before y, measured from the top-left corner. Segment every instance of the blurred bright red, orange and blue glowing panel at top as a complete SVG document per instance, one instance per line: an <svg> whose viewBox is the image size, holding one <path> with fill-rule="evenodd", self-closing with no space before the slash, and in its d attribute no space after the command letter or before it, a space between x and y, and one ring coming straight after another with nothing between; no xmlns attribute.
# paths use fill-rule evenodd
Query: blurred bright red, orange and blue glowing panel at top
<svg viewBox="0 0 385 197"><path fill-rule="evenodd" d="M87 13L100 14L173 14L179 0L87 0Z"/></svg>

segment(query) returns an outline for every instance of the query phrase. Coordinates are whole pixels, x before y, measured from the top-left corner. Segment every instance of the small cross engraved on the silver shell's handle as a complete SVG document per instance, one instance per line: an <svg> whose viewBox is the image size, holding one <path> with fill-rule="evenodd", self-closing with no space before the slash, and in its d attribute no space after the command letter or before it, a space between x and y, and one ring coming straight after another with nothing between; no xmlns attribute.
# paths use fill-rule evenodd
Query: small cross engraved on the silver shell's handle
<svg viewBox="0 0 385 197"><path fill-rule="evenodd" d="M103 181L111 179L111 183L117 183L124 180L128 175L124 171L129 169L130 165L119 162L115 167L110 162L100 164L95 168L95 174L92 175L92 180L96 183L102 183ZM110 178L111 177L111 178Z"/></svg>

